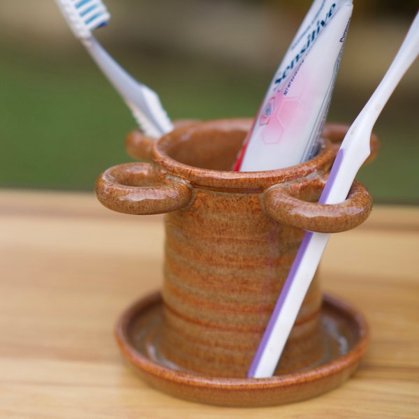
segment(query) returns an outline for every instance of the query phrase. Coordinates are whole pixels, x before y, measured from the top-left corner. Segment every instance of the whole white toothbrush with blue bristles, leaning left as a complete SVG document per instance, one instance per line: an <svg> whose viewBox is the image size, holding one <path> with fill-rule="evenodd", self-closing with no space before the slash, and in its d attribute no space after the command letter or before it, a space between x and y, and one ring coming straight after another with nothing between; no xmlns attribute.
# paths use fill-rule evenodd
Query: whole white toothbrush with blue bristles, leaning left
<svg viewBox="0 0 419 419"><path fill-rule="evenodd" d="M110 57L91 31L103 27L110 13L100 0L55 0L68 26L87 49L96 64L124 98L133 117L151 138L159 138L172 131L172 122L161 105L156 92L145 84L135 81L124 68Z"/></svg>

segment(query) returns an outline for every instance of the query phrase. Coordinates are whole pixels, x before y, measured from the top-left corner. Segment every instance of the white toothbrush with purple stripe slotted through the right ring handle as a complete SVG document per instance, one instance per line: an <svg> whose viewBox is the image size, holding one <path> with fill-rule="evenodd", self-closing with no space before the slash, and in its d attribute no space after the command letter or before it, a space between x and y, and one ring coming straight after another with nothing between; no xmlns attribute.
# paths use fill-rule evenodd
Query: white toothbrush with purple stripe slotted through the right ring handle
<svg viewBox="0 0 419 419"><path fill-rule="evenodd" d="M404 73L419 54L419 13L376 91L348 130L337 153L321 198L322 204L346 199L355 175L371 150L372 128ZM277 304L260 341L247 376L264 378L274 374L302 300L314 277L329 234L307 231L297 252Z"/></svg>

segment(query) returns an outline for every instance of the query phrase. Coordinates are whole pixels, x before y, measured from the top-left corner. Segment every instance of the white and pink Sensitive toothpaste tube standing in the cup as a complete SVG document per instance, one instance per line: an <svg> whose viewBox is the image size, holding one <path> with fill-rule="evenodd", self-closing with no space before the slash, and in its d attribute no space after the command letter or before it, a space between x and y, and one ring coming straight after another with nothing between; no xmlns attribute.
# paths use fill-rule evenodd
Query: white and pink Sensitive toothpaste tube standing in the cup
<svg viewBox="0 0 419 419"><path fill-rule="evenodd" d="M318 152L352 1L315 0L275 74L233 170L294 166Z"/></svg>

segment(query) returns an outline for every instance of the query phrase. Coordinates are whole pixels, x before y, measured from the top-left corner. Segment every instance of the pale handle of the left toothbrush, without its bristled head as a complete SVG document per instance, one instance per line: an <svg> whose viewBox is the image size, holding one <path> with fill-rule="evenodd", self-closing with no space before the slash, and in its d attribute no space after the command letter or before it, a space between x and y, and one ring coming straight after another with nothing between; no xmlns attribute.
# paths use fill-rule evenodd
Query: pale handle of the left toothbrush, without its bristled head
<svg viewBox="0 0 419 419"><path fill-rule="evenodd" d="M110 57L94 36L80 41L115 89L125 99L146 135L159 138L164 133L172 131L172 123L155 91L134 80L124 68Z"/></svg>

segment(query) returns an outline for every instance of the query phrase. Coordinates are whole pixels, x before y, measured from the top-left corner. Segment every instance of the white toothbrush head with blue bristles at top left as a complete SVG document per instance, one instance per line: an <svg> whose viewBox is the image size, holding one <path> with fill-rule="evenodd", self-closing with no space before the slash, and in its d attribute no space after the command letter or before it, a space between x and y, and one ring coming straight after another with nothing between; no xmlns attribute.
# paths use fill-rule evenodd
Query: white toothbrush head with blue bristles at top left
<svg viewBox="0 0 419 419"><path fill-rule="evenodd" d="M76 38L87 39L91 31L105 26L110 19L100 0L55 0Z"/></svg>

